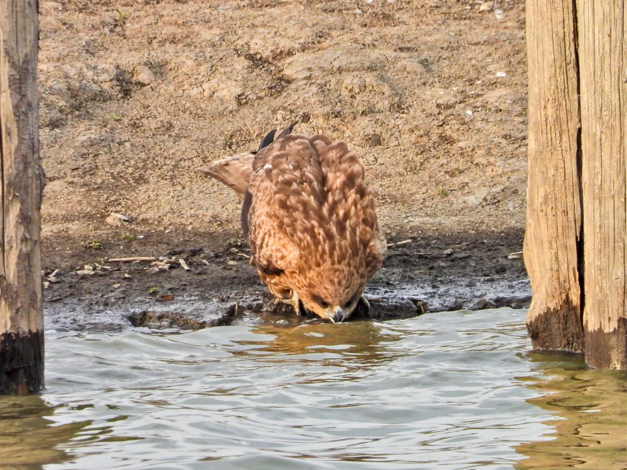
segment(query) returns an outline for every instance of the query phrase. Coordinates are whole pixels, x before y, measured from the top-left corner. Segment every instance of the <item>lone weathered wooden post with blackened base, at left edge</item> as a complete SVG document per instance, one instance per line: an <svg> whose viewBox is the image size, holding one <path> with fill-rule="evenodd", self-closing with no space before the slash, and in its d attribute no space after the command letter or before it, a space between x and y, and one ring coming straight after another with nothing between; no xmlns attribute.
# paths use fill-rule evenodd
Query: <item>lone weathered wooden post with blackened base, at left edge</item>
<svg viewBox="0 0 627 470"><path fill-rule="evenodd" d="M43 380L37 0L0 0L0 395Z"/></svg>

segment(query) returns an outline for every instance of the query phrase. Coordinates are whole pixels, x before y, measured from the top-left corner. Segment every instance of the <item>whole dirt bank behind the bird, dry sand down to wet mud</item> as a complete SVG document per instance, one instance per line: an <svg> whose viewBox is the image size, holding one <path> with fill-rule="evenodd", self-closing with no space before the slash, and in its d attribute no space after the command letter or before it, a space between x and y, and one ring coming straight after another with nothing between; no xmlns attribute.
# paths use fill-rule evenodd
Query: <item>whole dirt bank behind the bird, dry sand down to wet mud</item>
<svg viewBox="0 0 627 470"><path fill-rule="evenodd" d="M413 240L390 248L372 315L529 297L507 259L525 211L522 0L75 0L41 2L40 23L50 324L270 308L242 256L240 200L193 169L296 118L359 152L388 238ZM124 256L191 269L107 261ZM76 274L85 264L96 273Z"/></svg>

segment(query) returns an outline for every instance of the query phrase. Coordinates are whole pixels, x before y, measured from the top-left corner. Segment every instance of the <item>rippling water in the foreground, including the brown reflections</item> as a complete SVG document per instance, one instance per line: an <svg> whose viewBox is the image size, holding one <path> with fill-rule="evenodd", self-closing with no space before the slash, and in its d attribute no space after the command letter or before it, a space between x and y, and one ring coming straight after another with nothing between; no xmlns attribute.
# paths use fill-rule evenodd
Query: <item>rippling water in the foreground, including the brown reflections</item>
<svg viewBox="0 0 627 470"><path fill-rule="evenodd" d="M626 468L626 373L529 353L524 317L48 332L0 468Z"/></svg>

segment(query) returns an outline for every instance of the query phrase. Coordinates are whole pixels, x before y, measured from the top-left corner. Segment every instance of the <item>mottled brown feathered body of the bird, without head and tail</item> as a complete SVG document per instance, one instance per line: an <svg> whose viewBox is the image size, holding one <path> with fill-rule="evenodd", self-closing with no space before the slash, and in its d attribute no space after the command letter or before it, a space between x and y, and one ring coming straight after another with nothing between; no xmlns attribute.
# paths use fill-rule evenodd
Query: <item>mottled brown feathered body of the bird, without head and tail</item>
<svg viewBox="0 0 627 470"><path fill-rule="evenodd" d="M344 142L292 134L268 145L255 155L248 191L248 238L264 266L297 274L343 264L370 278L381 265L374 192Z"/></svg>

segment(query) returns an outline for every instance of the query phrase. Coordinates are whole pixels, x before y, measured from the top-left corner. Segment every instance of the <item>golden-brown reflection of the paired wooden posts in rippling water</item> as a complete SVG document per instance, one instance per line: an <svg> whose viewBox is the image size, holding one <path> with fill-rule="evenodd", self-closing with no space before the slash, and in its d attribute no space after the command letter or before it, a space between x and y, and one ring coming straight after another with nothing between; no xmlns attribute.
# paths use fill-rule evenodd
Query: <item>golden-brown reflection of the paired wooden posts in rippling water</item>
<svg viewBox="0 0 627 470"><path fill-rule="evenodd" d="M545 377L527 385L542 393L527 401L554 412L545 424L555 431L550 441L520 444L527 459L515 468L627 468L627 372L587 369L579 357L528 356Z"/></svg>

